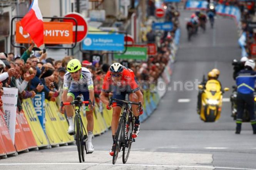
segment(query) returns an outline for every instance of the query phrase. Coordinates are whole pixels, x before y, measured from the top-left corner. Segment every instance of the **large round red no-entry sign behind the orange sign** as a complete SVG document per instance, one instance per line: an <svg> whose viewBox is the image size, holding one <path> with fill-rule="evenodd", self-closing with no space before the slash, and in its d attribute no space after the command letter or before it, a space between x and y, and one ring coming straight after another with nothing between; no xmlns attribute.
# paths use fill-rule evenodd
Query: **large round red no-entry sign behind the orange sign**
<svg viewBox="0 0 256 170"><path fill-rule="evenodd" d="M77 43L84 40L88 33L88 26L84 17L80 13L76 12L68 13L65 17L71 17L77 20ZM75 43L75 21L70 19L64 19L63 21L73 23L73 42Z"/></svg>

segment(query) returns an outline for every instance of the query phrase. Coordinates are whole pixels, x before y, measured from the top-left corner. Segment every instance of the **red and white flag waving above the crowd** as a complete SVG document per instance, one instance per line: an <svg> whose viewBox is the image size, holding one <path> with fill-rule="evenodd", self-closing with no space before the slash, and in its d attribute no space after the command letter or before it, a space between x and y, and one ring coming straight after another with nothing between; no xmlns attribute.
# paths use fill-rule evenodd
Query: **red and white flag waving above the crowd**
<svg viewBox="0 0 256 170"><path fill-rule="evenodd" d="M28 13L21 20L21 25L37 47L44 44L44 22L38 7L38 0L33 0Z"/></svg>

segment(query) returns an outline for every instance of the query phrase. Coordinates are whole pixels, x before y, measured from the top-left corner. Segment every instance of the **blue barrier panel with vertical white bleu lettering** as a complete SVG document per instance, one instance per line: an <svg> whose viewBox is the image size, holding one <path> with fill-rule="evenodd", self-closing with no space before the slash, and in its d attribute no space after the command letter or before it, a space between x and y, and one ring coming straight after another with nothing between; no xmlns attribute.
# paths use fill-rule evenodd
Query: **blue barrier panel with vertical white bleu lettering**
<svg viewBox="0 0 256 170"><path fill-rule="evenodd" d="M37 113L40 124L45 132L45 94L44 92L38 92L34 98L32 98L35 112Z"/></svg>

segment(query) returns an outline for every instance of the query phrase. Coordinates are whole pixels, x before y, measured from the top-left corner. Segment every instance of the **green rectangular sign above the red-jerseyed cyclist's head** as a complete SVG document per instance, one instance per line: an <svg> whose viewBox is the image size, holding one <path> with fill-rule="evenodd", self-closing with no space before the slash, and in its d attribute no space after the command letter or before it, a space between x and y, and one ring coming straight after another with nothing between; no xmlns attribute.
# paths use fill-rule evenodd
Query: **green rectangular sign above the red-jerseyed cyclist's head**
<svg viewBox="0 0 256 170"><path fill-rule="evenodd" d="M147 59L146 47L127 47L124 54L114 54L115 59Z"/></svg>

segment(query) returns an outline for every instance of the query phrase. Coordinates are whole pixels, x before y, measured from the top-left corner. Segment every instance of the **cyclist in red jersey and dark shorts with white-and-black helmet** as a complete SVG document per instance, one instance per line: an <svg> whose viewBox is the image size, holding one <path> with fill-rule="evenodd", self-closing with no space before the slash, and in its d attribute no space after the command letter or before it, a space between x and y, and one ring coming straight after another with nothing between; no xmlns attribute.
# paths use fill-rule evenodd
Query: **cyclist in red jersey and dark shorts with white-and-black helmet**
<svg viewBox="0 0 256 170"><path fill-rule="evenodd" d="M114 63L110 66L109 71L107 72L102 90L100 93L101 101L108 105L109 98L108 93L113 92L113 99L120 99L125 100L126 94L129 95L129 101L131 102L139 102L143 106L143 94L139 89L138 83L136 81L134 72L131 69L127 69L122 66L120 63ZM118 127L119 117L122 110L122 102L113 102L113 116L111 122L111 129L112 129L112 137L113 137L113 146L110 150L109 154L111 156L114 155L113 148L114 148L114 139L115 139L115 132ZM139 115L143 113L143 110L138 110L137 105L132 105L132 113L135 117L135 125L134 130L132 132L132 137L136 138L139 134Z"/></svg>

